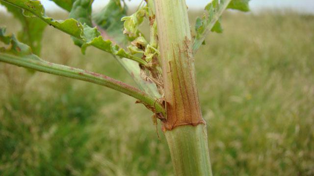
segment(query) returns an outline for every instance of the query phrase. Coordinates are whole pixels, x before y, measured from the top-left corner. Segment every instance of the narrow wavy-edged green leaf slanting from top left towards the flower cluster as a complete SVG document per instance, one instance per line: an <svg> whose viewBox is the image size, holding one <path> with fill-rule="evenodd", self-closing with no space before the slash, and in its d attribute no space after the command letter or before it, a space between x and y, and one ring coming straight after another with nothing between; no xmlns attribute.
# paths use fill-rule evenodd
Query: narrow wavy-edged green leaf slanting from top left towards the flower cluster
<svg viewBox="0 0 314 176"><path fill-rule="evenodd" d="M50 17L47 17L45 14L45 9L39 0L3 0L3 1L23 8L25 11L31 12L44 22L48 23L49 25L73 37L78 38L83 42L82 44L82 46L84 46L82 49L83 52L85 51L86 46L92 45L114 55L125 57L134 60L142 65L146 65L146 62L141 58L131 55L131 53L126 52L124 49L122 49L116 44L112 44L112 42L109 40L105 41L103 37L100 36L100 32L96 28L91 29L91 27L89 27L88 25L83 26L80 22L74 19L56 21Z"/></svg>

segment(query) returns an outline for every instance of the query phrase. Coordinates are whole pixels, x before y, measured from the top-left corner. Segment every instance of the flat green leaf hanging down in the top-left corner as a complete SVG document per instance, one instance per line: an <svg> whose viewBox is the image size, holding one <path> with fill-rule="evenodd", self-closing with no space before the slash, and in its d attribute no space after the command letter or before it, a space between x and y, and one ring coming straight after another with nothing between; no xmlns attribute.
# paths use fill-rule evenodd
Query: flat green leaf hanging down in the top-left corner
<svg viewBox="0 0 314 176"><path fill-rule="evenodd" d="M22 30L18 33L18 39L29 45L35 54L40 55L41 40L47 24L38 18L24 16L20 8L7 2L1 1L1 4L22 24Z"/></svg>

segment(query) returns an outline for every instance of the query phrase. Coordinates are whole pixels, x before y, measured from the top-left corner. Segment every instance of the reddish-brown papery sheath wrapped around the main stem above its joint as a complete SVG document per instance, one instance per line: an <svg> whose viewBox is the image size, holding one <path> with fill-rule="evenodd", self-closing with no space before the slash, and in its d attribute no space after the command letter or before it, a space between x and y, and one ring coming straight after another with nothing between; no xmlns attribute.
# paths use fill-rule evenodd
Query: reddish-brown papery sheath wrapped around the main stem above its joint
<svg viewBox="0 0 314 176"><path fill-rule="evenodd" d="M163 123L164 130L172 130L182 125L196 126L205 124L202 118L197 89L195 85L195 76L192 70L191 61L193 54L190 49L190 42L184 41L184 44L171 44L174 60L169 61L167 77L170 77L171 85L169 92L166 93L166 114L167 121ZM167 96L168 95L168 96Z"/></svg>

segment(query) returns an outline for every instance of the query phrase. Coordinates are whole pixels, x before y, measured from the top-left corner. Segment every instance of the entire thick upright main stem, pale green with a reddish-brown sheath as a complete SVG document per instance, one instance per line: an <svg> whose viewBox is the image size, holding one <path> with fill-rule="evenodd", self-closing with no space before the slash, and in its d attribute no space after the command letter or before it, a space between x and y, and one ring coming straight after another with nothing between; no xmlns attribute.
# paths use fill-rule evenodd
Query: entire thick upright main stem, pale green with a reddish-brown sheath
<svg viewBox="0 0 314 176"><path fill-rule="evenodd" d="M195 82L185 0L155 0L166 115L163 130L177 176L209 176L207 130Z"/></svg>

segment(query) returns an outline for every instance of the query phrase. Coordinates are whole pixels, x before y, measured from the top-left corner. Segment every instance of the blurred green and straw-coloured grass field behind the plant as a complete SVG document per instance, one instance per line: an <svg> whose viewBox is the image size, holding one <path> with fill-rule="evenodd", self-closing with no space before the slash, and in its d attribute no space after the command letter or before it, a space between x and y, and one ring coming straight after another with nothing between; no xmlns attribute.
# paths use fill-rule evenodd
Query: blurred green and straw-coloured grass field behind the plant
<svg viewBox="0 0 314 176"><path fill-rule="evenodd" d="M226 13L222 23L195 58L214 175L313 176L314 16ZM20 27L0 14L3 25ZM52 27L43 44L47 61L134 85L111 55L82 55ZM0 175L172 175L163 134L133 98L4 63L0 82Z"/></svg>

